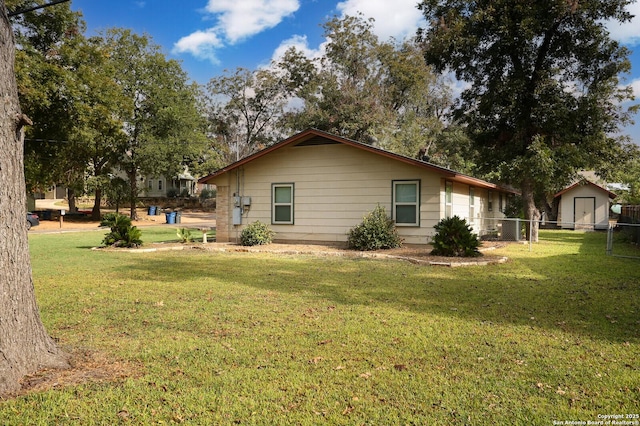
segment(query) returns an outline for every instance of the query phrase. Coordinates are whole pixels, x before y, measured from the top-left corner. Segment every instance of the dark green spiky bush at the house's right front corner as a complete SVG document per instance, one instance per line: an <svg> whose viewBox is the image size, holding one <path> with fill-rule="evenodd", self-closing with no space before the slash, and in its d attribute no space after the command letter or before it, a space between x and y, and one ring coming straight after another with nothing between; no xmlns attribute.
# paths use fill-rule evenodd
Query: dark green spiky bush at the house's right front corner
<svg viewBox="0 0 640 426"><path fill-rule="evenodd" d="M467 221L458 216L442 219L436 226L431 254L449 257L478 257L480 241Z"/></svg>

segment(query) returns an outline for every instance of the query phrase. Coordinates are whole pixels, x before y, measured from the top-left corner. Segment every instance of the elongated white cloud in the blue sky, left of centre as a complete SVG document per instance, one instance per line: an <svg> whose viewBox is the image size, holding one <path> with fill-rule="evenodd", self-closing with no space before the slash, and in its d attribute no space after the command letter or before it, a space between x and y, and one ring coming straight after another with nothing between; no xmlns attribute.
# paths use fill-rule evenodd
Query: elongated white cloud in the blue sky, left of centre
<svg viewBox="0 0 640 426"><path fill-rule="evenodd" d="M182 37L173 52L216 63L216 50L275 27L299 8L299 0L208 0L203 13L216 24Z"/></svg>

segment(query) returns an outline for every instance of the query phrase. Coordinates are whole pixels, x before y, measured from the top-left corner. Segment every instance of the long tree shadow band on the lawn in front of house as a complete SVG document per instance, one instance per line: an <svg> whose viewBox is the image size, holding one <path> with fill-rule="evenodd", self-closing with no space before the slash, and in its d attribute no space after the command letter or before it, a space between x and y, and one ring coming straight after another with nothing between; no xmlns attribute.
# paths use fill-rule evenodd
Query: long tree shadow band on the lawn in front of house
<svg viewBox="0 0 640 426"><path fill-rule="evenodd" d="M602 235L548 238L579 249L467 268L311 256L188 253L145 258L131 262L127 270L158 283L206 280L212 286L249 286L322 304L372 309L380 305L483 323L562 330L612 342L638 340L638 263L606 257Z"/></svg>

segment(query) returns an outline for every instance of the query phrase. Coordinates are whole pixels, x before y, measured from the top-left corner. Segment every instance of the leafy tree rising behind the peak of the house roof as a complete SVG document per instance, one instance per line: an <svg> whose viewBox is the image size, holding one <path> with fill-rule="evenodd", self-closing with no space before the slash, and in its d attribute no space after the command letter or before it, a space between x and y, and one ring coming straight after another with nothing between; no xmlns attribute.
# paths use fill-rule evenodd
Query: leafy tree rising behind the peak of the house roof
<svg viewBox="0 0 640 426"><path fill-rule="evenodd" d="M286 52L278 66L291 95L303 102L286 114L286 125L315 127L415 157L435 147L451 95L414 41L381 42L372 25L362 16L334 18L324 24L324 56Z"/></svg>

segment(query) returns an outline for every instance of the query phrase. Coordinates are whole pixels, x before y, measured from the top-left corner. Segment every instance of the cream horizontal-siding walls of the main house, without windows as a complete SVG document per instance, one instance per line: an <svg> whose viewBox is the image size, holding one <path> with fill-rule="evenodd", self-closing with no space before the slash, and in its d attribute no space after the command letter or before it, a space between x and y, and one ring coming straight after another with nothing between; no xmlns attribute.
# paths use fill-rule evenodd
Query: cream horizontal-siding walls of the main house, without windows
<svg viewBox="0 0 640 426"><path fill-rule="evenodd" d="M276 241L345 242L349 229L378 204L392 213L393 182L401 180L419 181L419 226L397 226L398 233L407 244L427 244L444 217L441 175L345 144L287 146L217 176L210 183L218 187L218 241L235 241L244 226L259 220L276 232ZM292 225L272 223L273 184L294 185ZM239 226L232 221L234 195L251 197ZM453 200L454 214L468 217L468 185L455 183ZM481 214L481 205L476 209Z"/></svg>

